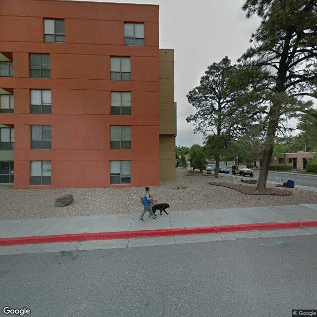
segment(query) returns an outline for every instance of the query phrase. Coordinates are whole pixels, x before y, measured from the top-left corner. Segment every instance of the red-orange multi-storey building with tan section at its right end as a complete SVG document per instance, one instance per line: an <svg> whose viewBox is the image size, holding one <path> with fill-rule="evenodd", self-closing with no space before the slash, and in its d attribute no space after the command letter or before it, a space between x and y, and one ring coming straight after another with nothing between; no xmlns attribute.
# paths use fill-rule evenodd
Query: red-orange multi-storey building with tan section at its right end
<svg viewBox="0 0 317 317"><path fill-rule="evenodd" d="M0 1L0 183L157 186L175 178L174 52L159 6Z"/></svg>

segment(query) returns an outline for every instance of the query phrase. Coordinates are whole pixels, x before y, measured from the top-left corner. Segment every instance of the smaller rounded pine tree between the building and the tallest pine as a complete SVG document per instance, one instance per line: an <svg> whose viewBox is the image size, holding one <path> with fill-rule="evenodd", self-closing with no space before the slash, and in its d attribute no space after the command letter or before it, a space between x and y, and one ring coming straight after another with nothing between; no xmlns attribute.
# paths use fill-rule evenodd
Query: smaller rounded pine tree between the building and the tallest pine
<svg viewBox="0 0 317 317"><path fill-rule="evenodd" d="M194 132L201 132L206 138L207 151L216 161L214 177L218 177L222 149L237 135L244 133L250 121L259 119L262 74L252 65L247 68L243 64L231 65L225 56L219 63L208 67L200 80L200 86L186 96L188 102L197 109L186 120L193 121ZM250 91L252 98L249 96Z"/></svg>

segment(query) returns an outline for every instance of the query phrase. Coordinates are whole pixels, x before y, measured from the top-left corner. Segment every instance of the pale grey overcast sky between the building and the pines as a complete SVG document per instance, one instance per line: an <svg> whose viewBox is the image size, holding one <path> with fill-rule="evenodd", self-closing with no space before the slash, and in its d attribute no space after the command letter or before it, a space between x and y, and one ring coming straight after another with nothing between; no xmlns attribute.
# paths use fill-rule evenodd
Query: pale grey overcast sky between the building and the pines
<svg viewBox="0 0 317 317"><path fill-rule="evenodd" d="M244 0L95 0L159 4L159 48L175 50L176 145L202 144L186 117L195 112L186 95L199 85L207 67L228 56L235 63L250 46L260 20L245 17Z"/></svg>

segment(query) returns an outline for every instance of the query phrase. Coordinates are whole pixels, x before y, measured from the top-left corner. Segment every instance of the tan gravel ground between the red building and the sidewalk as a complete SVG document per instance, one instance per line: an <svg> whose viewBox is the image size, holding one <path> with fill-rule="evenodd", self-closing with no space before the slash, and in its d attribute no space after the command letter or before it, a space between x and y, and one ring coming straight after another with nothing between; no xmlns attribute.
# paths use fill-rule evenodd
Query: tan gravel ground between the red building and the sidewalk
<svg viewBox="0 0 317 317"><path fill-rule="evenodd" d="M158 203L170 205L167 212L317 204L317 193L297 188L287 188L292 192L291 196L258 196L212 186L209 182L213 181L242 184L239 178L214 178L213 174L189 176L186 170L176 169L176 180L162 181L160 186L150 187L150 190ZM186 185L187 188L177 189L177 185ZM255 188L256 185L242 186ZM276 188L271 184L267 187ZM64 194L74 195L74 202L69 206L55 207L55 198ZM144 187L13 189L3 186L0 187L0 220L141 212L143 195Z"/></svg>

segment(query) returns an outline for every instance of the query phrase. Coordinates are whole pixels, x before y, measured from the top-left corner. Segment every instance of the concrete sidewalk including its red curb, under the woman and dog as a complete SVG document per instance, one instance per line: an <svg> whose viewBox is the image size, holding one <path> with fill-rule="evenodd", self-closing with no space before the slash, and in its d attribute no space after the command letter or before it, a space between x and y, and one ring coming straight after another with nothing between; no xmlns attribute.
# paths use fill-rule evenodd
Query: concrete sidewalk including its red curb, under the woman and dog
<svg viewBox="0 0 317 317"><path fill-rule="evenodd" d="M0 247L140 237L317 227L317 204L0 221ZM314 232L317 228L313 229Z"/></svg>

